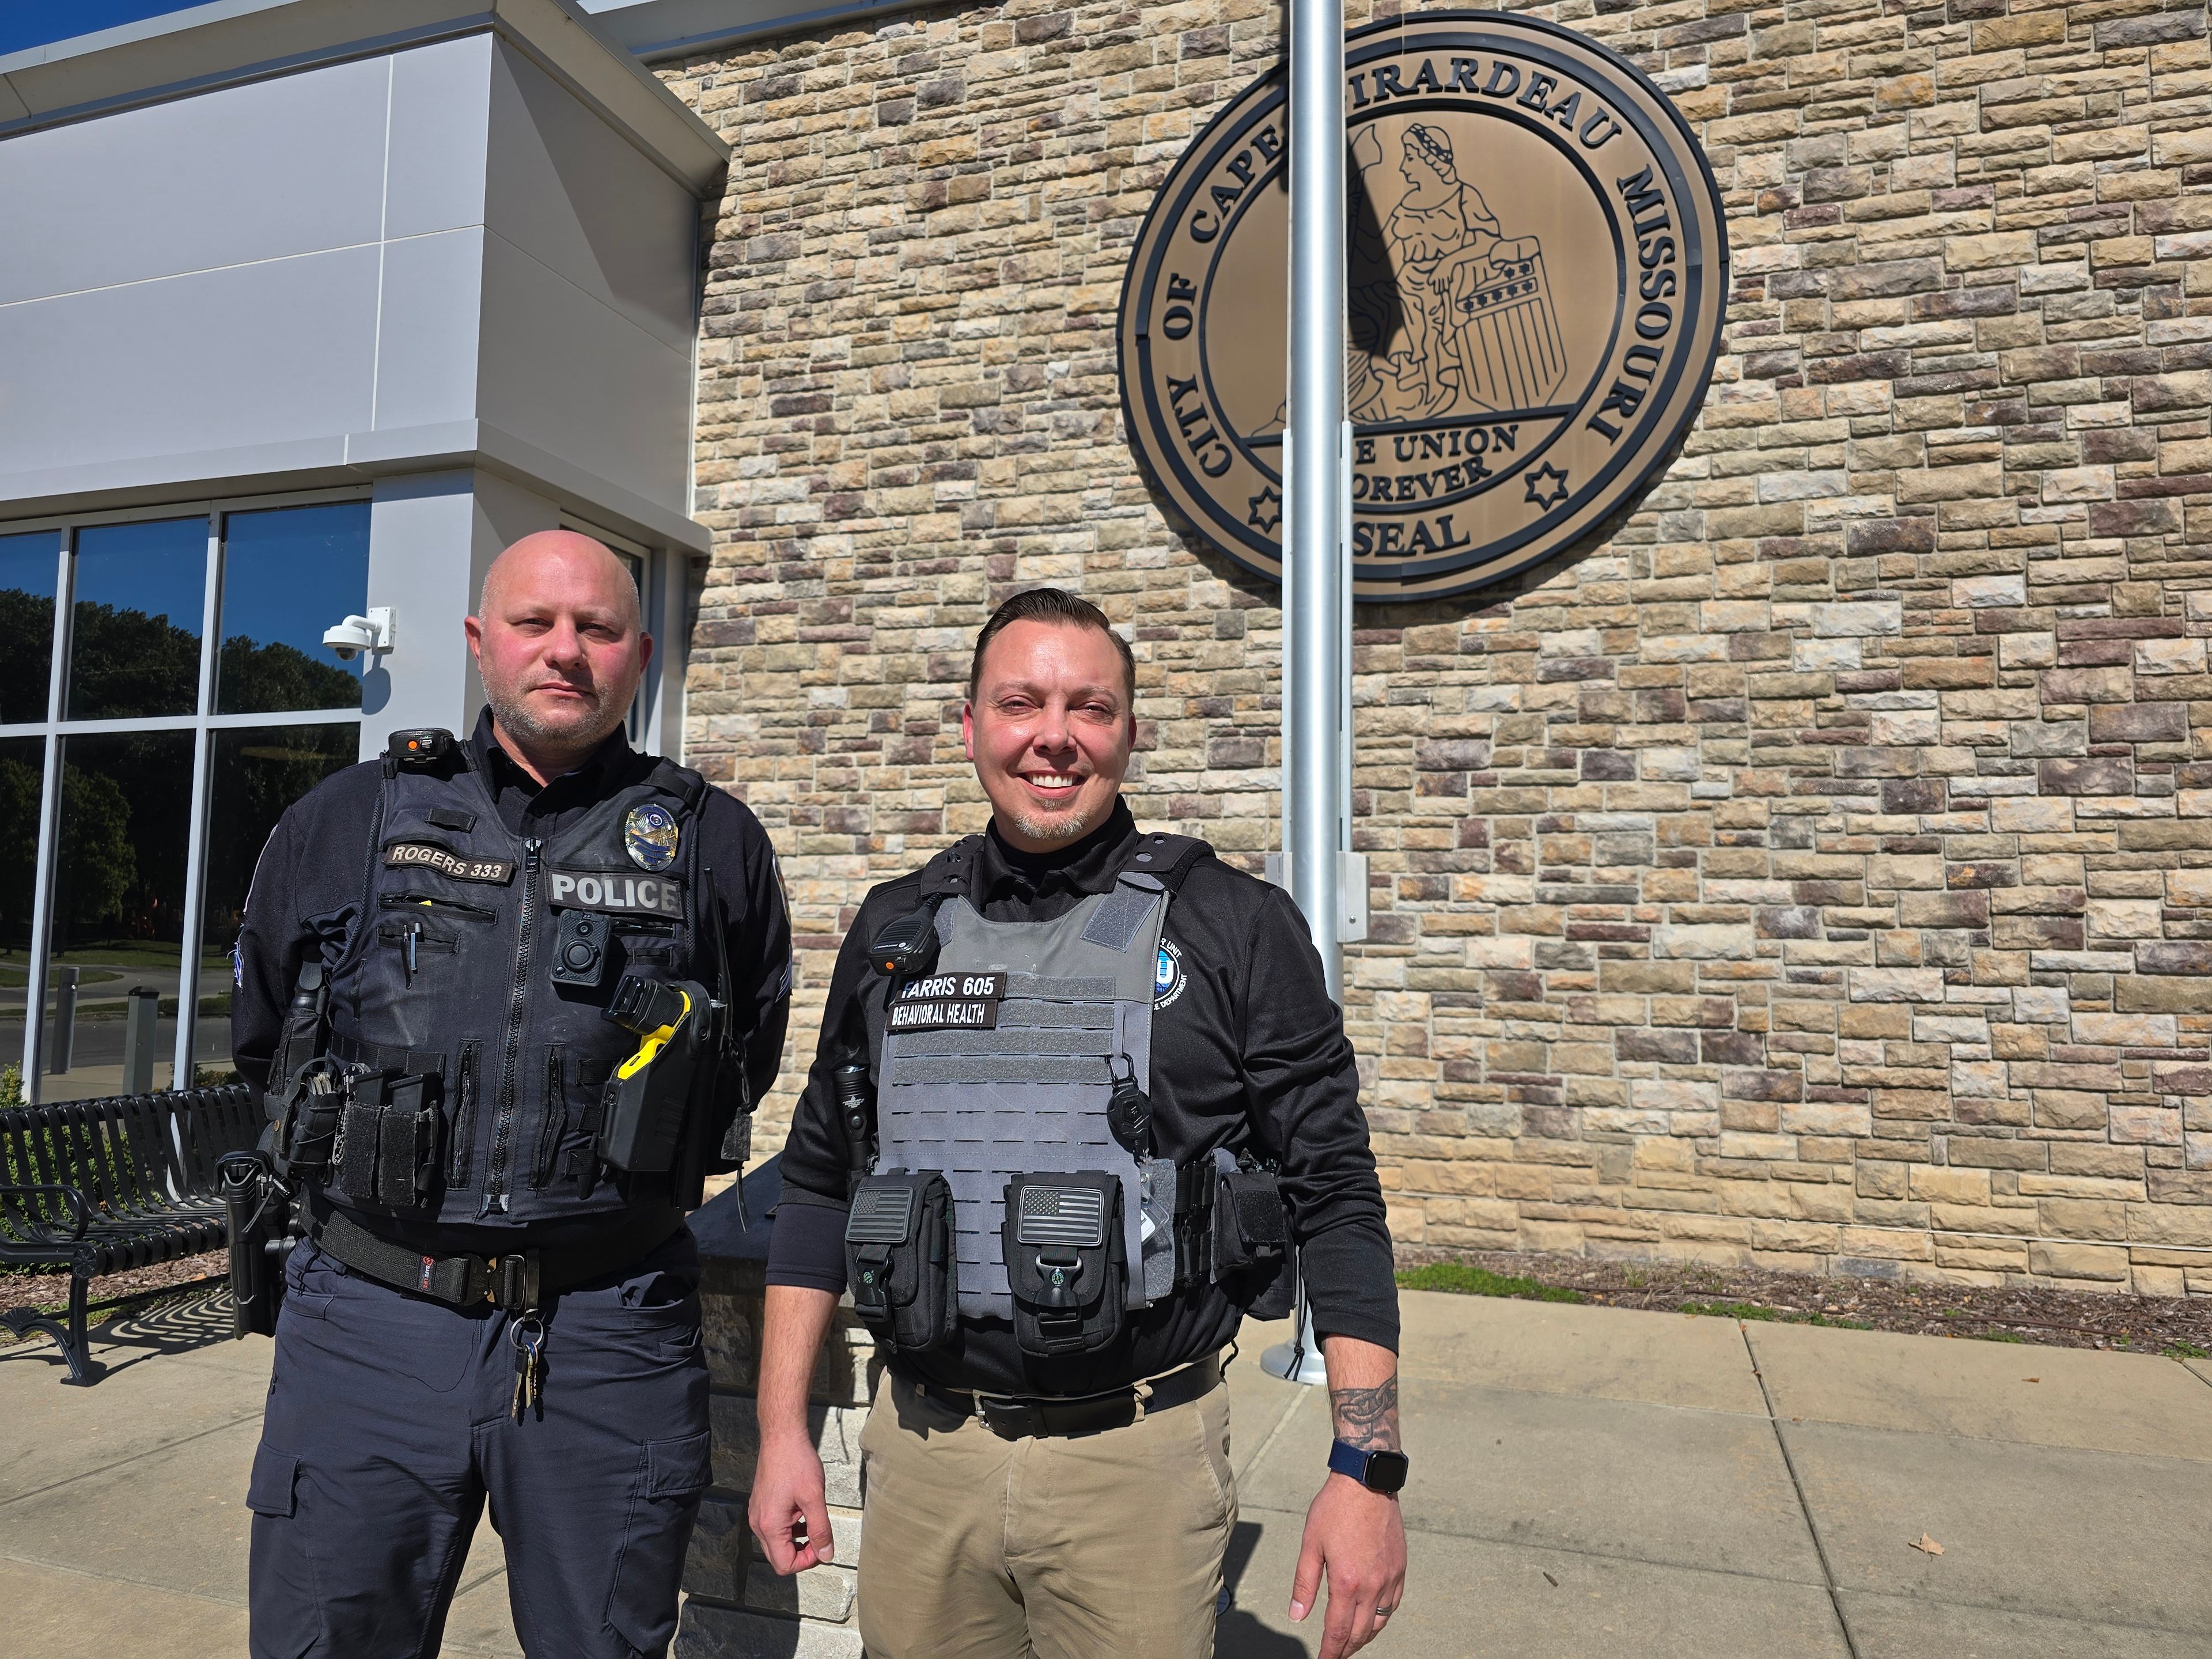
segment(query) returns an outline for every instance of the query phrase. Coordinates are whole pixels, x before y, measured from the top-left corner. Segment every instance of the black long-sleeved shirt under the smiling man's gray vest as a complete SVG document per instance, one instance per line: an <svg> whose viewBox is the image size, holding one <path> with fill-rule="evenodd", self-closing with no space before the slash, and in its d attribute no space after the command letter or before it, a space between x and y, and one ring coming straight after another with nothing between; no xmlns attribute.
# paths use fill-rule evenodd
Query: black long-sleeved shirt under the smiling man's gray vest
<svg viewBox="0 0 2212 1659"><path fill-rule="evenodd" d="M993 827L973 894L987 920L1048 922L1110 891L1135 838L1137 823L1119 803L1099 830L1051 854L1009 847ZM832 1071L847 1048L880 1053L887 982L869 967L867 945L918 905L920 872L876 887L845 933L821 1048L783 1148L770 1285L845 1287L849 1159ZM1186 1164L1217 1146L1237 1150L1256 1130L1256 1150L1283 1166L1316 1329L1396 1349L1398 1292L1358 1066L1305 918L1283 889L1201 858L1168 905L1161 940L1172 975L1152 1002L1157 1157ZM1133 1312L1128 1334L1102 1354L1037 1360L1020 1352L1009 1323L962 1321L951 1347L902 1354L898 1365L960 1389L1084 1394L1212 1354L1237 1336L1237 1323L1228 1296L1201 1285Z"/></svg>

